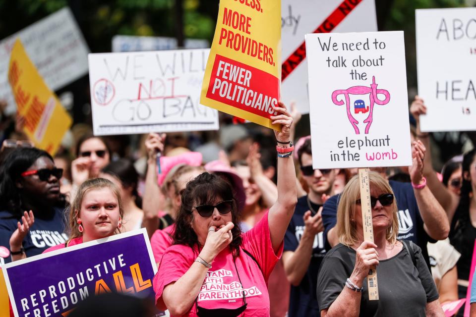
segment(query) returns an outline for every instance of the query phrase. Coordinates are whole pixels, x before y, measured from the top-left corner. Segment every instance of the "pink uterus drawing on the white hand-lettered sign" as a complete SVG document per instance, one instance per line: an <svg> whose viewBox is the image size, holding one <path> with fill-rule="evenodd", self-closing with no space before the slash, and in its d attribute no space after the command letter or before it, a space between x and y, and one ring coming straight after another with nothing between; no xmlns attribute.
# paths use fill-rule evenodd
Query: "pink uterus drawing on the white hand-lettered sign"
<svg viewBox="0 0 476 317"><path fill-rule="evenodd" d="M332 102L337 105L337 106L342 106L346 104L347 108L347 117L349 118L349 121L351 122L352 126L354 127L354 130L356 131L356 134L360 134L360 130L357 126L358 121L357 119L352 115L351 112L351 102L349 95L366 95L370 94L370 111L368 113L368 117L363 120L364 123L367 123L365 126L365 134L368 134L368 131L370 130L370 126L372 125L373 121L373 106L374 104L383 106L387 105L390 102L390 93L387 90L384 89L377 89L377 84L375 83L375 76L372 77L372 84L370 84L370 87L367 86L354 86L346 90L336 90L332 93ZM340 95L344 95L345 100L338 100L337 98ZM378 95L384 95L385 99L380 100L378 99ZM367 111L355 111L357 112L363 112L366 113Z"/></svg>

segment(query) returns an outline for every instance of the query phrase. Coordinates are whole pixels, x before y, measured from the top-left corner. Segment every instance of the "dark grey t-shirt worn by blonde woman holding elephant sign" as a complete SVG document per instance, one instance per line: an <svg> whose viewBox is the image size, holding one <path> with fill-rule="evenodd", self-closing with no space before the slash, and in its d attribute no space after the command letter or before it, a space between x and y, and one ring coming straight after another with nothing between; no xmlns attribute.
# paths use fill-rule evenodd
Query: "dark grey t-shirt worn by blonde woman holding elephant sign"
<svg viewBox="0 0 476 317"><path fill-rule="evenodd" d="M368 300L367 278L363 280L359 316L426 317L426 303L438 299L430 271L414 245L416 264L405 247L396 256L377 266L378 301ZM344 289L356 263L356 251L343 244L332 248L324 258L317 281L317 299L321 309L328 309Z"/></svg>

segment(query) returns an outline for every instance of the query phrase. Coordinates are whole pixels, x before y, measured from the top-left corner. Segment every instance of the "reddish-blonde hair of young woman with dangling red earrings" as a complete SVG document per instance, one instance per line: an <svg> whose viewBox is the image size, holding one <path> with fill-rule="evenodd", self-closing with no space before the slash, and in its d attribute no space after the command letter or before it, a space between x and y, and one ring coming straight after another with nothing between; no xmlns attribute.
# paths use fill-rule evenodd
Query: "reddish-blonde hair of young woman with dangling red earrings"
<svg viewBox="0 0 476 317"><path fill-rule="evenodd" d="M69 217L67 221L67 228L66 232L69 236L69 241L71 241L74 238L82 236L82 232L79 232L79 225L77 222L77 216L79 215L79 211L81 211L81 204L83 202L84 195L86 192L89 190L95 190L95 189L101 189L101 188L109 188L113 194L116 196L118 200L118 207L119 207L119 215L121 218L123 218L124 215L124 210L122 209L122 201L120 199L120 191L119 188L114 185L113 182L110 180L107 180L105 178L92 178L88 179L84 183L79 186L78 192L76 194L76 197L74 198L74 201L71 204L70 210L69 210ZM120 229L117 228L114 231L115 234L120 233Z"/></svg>

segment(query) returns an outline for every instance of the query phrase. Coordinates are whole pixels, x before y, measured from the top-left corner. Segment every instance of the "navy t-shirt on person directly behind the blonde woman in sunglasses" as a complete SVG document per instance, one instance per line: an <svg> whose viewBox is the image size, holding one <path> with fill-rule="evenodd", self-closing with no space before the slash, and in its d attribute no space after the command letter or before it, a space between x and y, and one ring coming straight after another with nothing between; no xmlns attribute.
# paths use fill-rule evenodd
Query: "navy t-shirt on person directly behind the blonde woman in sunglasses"
<svg viewBox="0 0 476 317"><path fill-rule="evenodd" d="M397 201L399 228L397 239L411 240L419 246L423 258L428 264L428 267L430 267L426 243L428 241L435 242L435 240L431 239L423 228L423 219L416 204L412 184L393 180L389 180L389 184L390 187L392 187ZM329 230L336 225L338 203L339 195L332 196L327 200L322 209L322 223L324 224L324 236L326 238ZM330 245L326 243L326 250L330 249Z"/></svg>

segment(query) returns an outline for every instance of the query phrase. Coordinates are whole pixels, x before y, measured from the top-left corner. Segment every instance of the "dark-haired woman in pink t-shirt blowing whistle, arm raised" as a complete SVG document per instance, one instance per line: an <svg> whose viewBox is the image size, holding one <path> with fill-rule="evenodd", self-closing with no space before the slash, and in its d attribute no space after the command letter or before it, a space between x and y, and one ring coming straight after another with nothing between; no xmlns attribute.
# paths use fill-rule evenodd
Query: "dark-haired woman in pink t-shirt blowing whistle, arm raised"
<svg viewBox="0 0 476 317"><path fill-rule="evenodd" d="M269 316L266 287L283 252L296 205L292 118L280 103L272 116L278 151L278 200L249 231L241 233L230 184L207 172L188 182L174 232L154 278L156 304L171 316Z"/></svg>

